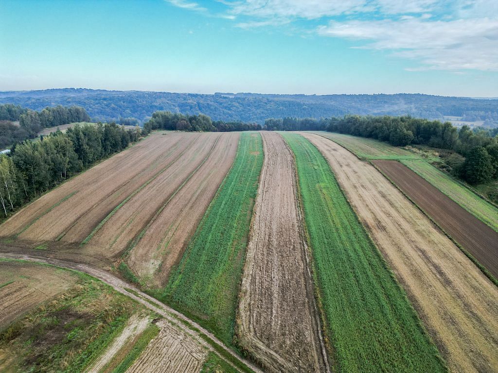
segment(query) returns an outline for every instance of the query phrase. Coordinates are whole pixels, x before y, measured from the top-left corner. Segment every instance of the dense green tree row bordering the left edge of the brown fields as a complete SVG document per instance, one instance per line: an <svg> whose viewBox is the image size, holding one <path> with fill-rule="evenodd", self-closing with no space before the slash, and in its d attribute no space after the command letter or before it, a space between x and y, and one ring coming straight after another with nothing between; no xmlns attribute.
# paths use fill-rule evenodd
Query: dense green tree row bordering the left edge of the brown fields
<svg viewBox="0 0 498 373"><path fill-rule="evenodd" d="M142 136L115 123L75 125L40 141L24 141L0 155L0 208L8 216L18 207L95 162L125 149Z"/></svg>

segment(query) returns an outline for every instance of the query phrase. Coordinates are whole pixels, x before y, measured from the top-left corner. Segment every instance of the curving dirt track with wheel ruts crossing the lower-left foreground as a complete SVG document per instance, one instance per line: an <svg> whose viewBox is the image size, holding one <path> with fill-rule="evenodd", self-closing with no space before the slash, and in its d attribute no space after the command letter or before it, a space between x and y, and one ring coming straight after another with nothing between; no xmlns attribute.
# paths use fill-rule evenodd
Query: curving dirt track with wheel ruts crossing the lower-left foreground
<svg viewBox="0 0 498 373"><path fill-rule="evenodd" d="M152 296L147 295L146 293L142 292L135 286L130 285L129 283L119 279L118 277L114 276L113 274L107 271L100 270L83 263L73 263L53 258L45 258L42 256L30 256L24 254L8 253L3 251L0 252L0 258L6 260L36 262L52 267L69 269L77 273L83 272L99 281L102 281L110 285L121 294L124 294L125 296L134 299L140 304L143 304L149 310L152 310L157 314L163 316L170 324L172 324L178 330L182 331L183 333L187 333L192 338L197 340L199 343L204 344L208 349L216 353L221 359L227 360L224 355L228 354L231 356L231 358L234 358L236 361L240 362L240 364L242 364L242 367L246 372L263 373L250 361L248 361L243 357L239 357L234 351L229 349L223 342L221 342L218 338L216 338L216 336L214 336L211 332L203 328L201 325L197 324L195 321L189 319L181 312L178 312L175 309L169 307L168 305L162 303L161 301L153 298ZM182 327L180 324L183 324L184 326ZM200 340L202 340L202 342ZM220 352L220 349L223 350L223 352ZM230 362L228 363L230 364ZM237 367L237 369L240 368Z"/></svg>

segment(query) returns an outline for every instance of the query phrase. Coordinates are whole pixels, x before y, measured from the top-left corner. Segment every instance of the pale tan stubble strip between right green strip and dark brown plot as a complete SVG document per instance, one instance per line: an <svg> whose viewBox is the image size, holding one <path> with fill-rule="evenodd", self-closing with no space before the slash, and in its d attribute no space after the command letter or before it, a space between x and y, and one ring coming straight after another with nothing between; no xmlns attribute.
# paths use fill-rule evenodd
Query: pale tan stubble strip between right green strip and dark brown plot
<svg viewBox="0 0 498 373"><path fill-rule="evenodd" d="M498 288L375 168L303 133L325 156L452 372L498 371Z"/></svg>

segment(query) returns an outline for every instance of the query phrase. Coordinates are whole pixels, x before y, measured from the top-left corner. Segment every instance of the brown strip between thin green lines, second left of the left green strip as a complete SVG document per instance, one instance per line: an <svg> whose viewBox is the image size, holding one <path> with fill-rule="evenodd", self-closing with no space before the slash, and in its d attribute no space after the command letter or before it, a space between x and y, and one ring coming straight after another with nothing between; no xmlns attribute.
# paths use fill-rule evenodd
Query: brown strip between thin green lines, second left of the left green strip
<svg viewBox="0 0 498 373"><path fill-rule="evenodd" d="M173 193L198 171L220 139L218 133L202 133L167 171L141 189L100 227L89 247L108 257L122 253L164 207Z"/></svg>

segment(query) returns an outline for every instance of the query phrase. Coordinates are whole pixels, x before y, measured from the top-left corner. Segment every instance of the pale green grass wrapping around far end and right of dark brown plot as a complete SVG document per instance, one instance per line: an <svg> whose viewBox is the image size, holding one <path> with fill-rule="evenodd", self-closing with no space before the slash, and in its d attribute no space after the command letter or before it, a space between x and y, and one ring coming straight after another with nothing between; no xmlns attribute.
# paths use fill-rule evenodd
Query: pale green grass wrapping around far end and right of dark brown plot
<svg viewBox="0 0 498 373"><path fill-rule="evenodd" d="M408 150L373 139L322 131L315 131L314 133L331 139L362 159L385 159L403 163L406 167L427 180L434 187L441 190L441 192L498 232L498 208L449 175L432 166L429 163L433 160L431 157L424 158L418 153L412 153Z"/></svg>

